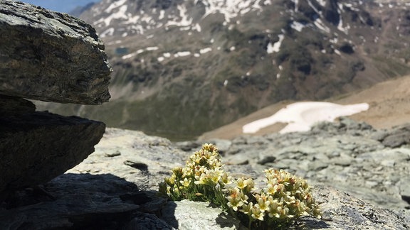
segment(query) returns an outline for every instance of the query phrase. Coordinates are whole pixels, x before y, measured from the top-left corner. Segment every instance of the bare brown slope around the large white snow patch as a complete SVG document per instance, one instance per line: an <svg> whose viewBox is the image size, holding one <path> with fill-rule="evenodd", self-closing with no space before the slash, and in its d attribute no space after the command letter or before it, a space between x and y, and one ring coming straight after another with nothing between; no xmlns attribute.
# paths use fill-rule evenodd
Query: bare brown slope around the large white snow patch
<svg viewBox="0 0 410 230"><path fill-rule="evenodd" d="M380 82L364 90L333 97L327 99L327 102L336 104L368 103L369 109L367 111L362 111L349 117L356 121L366 122L374 128L391 128L406 124L410 122L410 75ZM199 138L232 139L241 136L243 135L242 127L244 125L272 116L280 109L292 103L293 101L288 100L266 106L248 116L233 121L231 124L203 133ZM278 132L283 127L285 127L283 123L273 124L262 128L254 135L261 136L267 133Z"/></svg>

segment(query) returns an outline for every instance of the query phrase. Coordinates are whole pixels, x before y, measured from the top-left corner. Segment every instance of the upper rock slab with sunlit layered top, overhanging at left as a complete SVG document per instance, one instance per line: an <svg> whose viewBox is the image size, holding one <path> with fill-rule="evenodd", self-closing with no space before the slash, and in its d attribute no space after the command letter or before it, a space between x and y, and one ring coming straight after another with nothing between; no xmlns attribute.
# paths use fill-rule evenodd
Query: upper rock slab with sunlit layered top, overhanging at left
<svg viewBox="0 0 410 230"><path fill-rule="evenodd" d="M102 104L111 68L88 23L19 1L0 1L0 94Z"/></svg>

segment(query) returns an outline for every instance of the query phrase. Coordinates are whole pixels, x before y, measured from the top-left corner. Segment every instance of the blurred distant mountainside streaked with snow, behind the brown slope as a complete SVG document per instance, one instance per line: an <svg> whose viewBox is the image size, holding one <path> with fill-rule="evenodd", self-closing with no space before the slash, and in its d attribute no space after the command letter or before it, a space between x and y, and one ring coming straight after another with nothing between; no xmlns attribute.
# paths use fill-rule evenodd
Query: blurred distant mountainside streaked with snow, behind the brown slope
<svg viewBox="0 0 410 230"><path fill-rule="evenodd" d="M105 106L44 109L172 139L285 99L326 99L410 72L410 1L105 0Z"/></svg>

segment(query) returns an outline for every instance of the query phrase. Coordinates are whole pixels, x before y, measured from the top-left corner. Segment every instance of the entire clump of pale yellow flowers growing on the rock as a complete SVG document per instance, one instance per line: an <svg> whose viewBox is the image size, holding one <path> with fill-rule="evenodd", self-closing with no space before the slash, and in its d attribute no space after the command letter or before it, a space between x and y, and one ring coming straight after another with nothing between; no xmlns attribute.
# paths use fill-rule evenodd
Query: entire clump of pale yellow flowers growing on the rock
<svg viewBox="0 0 410 230"><path fill-rule="evenodd" d="M241 221L249 229L288 226L298 217L321 218L320 208L308 183L284 170L265 170L266 186L255 187L252 178L228 175L216 146L204 144L174 168L159 184L159 192L172 200L211 202Z"/></svg>

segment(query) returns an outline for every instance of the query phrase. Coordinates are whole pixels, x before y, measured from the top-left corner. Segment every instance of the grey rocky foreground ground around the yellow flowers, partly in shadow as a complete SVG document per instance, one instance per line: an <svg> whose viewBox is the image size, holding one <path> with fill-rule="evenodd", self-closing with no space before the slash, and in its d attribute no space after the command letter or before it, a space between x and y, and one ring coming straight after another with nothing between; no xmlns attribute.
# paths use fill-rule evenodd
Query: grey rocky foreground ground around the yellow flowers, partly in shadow
<svg viewBox="0 0 410 230"><path fill-rule="evenodd" d="M262 170L273 167L305 177L323 218L303 217L293 229L409 229L409 203L401 192L409 191L404 180L409 148L407 143L396 148L383 144L397 131L403 128L377 131L341 119L305 133L204 143L219 146L233 176L261 181ZM48 195L26 189L4 201L0 228L243 229L218 207L167 202L155 195L157 183L184 165L201 144L107 128L95 153L43 185Z"/></svg>

